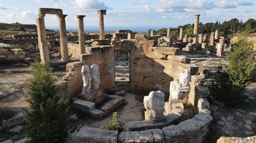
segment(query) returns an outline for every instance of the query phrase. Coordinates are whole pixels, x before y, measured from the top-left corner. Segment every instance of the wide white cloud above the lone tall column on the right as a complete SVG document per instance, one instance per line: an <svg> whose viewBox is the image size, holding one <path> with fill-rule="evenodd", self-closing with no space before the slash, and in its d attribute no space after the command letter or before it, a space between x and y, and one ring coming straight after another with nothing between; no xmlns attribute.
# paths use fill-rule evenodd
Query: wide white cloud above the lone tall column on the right
<svg viewBox="0 0 256 143"><path fill-rule="evenodd" d="M158 3L158 12L195 12L198 10L209 10L214 3L206 0L183 0L181 2L161 1Z"/></svg>

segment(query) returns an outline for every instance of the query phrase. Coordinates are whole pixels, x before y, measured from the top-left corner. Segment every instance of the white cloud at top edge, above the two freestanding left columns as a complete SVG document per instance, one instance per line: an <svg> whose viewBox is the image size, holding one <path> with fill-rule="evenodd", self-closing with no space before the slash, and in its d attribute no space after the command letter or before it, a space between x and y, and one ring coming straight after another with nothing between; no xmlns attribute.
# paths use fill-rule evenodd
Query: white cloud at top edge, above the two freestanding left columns
<svg viewBox="0 0 256 143"><path fill-rule="evenodd" d="M74 9L79 11L90 11L92 9L112 9L111 7L106 6L98 0L71 0L71 4Z"/></svg>

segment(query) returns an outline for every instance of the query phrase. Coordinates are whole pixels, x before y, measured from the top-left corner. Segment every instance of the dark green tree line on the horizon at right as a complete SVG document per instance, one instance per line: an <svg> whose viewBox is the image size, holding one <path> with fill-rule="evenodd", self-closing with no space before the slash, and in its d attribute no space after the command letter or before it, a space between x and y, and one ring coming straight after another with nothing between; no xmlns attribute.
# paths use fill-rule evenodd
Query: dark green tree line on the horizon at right
<svg viewBox="0 0 256 143"><path fill-rule="evenodd" d="M193 36L194 32L194 24L185 24L179 25L177 28L170 28L170 34L178 36L180 34L180 28L183 28L185 34L189 37ZM242 22L242 20L238 20L237 18L232 18L229 21L224 21L220 23L219 21L208 22L203 24L199 23L199 34L210 34L215 32L215 30L220 30L220 36L226 36L231 33L242 32L242 34L250 34L256 32L256 20L248 19L246 22ZM167 28L161 28L156 31L157 34L166 33ZM151 33L151 30L148 30L148 33Z"/></svg>

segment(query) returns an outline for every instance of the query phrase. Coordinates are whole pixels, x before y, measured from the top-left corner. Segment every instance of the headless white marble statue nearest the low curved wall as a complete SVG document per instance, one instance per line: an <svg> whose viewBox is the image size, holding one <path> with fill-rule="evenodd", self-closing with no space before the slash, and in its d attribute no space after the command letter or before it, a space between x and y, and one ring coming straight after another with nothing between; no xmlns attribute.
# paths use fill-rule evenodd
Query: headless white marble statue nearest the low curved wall
<svg viewBox="0 0 256 143"><path fill-rule="evenodd" d="M164 93L162 91L152 91L148 96L144 96L143 104L146 111L155 110L152 118L163 117Z"/></svg>

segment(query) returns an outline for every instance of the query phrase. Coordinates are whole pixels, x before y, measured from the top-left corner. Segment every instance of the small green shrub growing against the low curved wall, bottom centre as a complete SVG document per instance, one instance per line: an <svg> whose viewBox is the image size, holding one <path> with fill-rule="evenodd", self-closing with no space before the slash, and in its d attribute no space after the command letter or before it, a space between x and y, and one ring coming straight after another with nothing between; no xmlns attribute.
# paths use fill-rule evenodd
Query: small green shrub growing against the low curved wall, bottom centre
<svg viewBox="0 0 256 143"><path fill-rule="evenodd" d="M118 120L117 112L113 112L112 119L109 125L104 127L105 130L118 130L118 132L123 132L122 122Z"/></svg>

